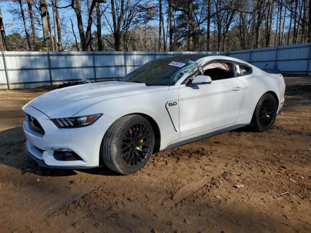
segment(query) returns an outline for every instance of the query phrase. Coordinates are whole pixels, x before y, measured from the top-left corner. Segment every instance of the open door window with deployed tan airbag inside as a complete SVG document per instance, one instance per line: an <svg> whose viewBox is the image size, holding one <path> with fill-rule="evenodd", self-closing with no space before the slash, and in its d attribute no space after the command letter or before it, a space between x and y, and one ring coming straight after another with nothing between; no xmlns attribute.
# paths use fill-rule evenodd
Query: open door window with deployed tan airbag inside
<svg viewBox="0 0 311 233"><path fill-rule="evenodd" d="M207 64L203 70L204 75L209 76L213 81L234 77L234 69L231 62L212 62Z"/></svg>

